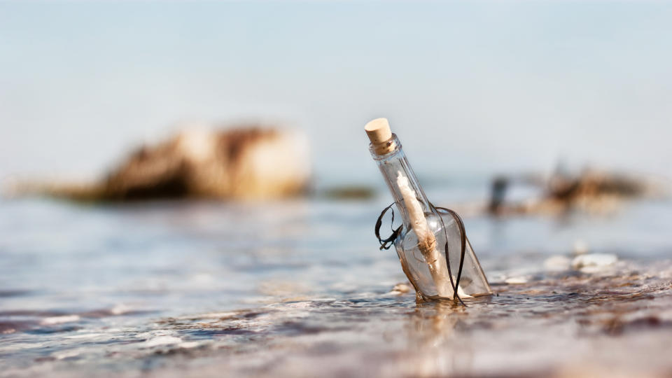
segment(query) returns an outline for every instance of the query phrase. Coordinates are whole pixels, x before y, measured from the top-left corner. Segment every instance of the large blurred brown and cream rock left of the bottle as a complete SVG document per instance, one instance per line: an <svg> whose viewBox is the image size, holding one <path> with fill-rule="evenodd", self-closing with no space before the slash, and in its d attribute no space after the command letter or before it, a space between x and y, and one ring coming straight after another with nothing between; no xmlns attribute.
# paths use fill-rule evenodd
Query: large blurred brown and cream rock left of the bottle
<svg viewBox="0 0 672 378"><path fill-rule="evenodd" d="M307 138L296 131L188 130L138 148L92 185L48 185L24 191L90 201L288 197L307 189L308 150Z"/></svg>

